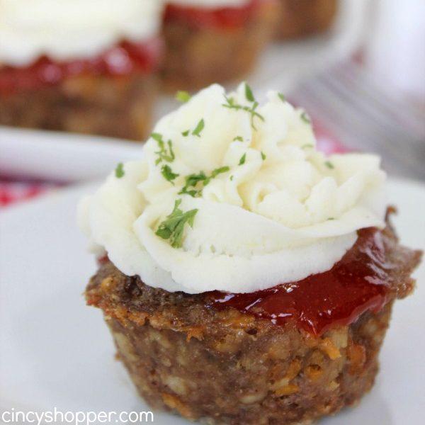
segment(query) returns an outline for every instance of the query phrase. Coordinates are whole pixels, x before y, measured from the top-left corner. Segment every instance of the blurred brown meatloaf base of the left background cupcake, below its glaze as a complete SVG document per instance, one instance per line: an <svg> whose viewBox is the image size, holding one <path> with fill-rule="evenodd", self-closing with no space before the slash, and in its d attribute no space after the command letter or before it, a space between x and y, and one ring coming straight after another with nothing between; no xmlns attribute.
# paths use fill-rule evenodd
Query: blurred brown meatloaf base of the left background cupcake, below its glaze
<svg viewBox="0 0 425 425"><path fill-rule="evenodd" d="M0 125L90 133L130 140L149 134L157 79L79 76L0 96Z"/></svg>

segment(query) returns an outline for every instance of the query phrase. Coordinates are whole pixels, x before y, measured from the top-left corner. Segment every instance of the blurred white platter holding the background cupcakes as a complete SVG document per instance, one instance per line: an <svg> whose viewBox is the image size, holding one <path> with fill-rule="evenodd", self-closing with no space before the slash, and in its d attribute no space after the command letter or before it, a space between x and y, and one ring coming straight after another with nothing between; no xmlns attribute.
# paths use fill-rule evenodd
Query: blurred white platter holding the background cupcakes
<svg viewBox="0 0 425 425"><path fill-rule="evenodd" d="M338 19L326 35L268 47L256 72L249 76L259 98L267 89L288 93L301 79L349 57L365 35L367 6L367 0L341 0ZM175 101L163 97L156 105L156 119L175 107ZM0 152L2 174L87 181L140 155L140 145L107 137L0 126Z"/></svg>

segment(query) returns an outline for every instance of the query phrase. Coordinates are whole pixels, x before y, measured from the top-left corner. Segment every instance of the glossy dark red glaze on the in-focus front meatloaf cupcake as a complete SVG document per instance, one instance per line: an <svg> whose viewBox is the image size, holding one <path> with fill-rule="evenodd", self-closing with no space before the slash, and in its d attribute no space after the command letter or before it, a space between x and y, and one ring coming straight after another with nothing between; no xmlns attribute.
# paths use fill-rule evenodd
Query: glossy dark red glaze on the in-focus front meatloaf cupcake
<svg viewBox="0 0 425 425"><path fill-rule="evenodd" d="M275 324L295 319L300 328L320 335L355 322L367 310L378 312L387 302L391 268L381 232L363 229L353 248L329 271L256 293L215 291L208 306L234 307Z"/></svg>

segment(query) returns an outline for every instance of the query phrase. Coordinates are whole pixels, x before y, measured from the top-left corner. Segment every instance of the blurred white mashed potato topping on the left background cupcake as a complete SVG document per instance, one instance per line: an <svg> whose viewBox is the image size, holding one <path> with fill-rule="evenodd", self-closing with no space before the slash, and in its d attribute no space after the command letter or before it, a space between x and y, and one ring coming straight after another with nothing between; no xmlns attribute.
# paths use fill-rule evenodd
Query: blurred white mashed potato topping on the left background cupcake
<svg viewBox="0 0 425 425"><path fill-rule="evenodd" d="M159 31L158 0L0 0L0 62L25 66L40 55L72 60L96 55L123 38Z"/></svg>

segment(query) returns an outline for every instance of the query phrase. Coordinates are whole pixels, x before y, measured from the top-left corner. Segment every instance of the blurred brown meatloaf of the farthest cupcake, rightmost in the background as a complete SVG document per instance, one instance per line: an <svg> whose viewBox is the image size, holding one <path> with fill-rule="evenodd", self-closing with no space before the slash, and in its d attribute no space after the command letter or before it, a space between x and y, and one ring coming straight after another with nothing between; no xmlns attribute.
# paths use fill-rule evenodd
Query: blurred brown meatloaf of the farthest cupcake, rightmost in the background
<svg viewBox="0 0 425 425"><path fill-rule="evenodd" d="M323 33L334 22L339 0L280 0L278 38Z"/></svg>

